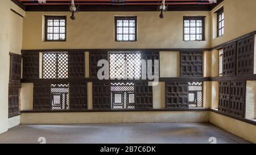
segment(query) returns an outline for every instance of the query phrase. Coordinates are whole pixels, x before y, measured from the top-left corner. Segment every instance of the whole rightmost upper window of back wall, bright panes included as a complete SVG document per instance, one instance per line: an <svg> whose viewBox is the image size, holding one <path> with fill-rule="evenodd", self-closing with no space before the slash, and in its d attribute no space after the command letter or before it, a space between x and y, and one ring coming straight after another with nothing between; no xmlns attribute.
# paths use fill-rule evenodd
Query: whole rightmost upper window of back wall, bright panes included
<svg viewBox="0 0 256 155"><path fill-rule="evenodd" d="M184 41L204 40L205 16L184 16Z"/></svg>

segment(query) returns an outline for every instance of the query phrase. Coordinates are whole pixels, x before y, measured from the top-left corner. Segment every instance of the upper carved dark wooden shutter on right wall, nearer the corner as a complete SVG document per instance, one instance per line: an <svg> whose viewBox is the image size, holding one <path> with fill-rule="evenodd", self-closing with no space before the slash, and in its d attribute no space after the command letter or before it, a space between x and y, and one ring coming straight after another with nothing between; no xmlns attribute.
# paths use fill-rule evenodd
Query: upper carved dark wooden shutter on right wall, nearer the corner
<svg viewBox="0 0 256 155"><path fill-rule="evenodd" d="M236 75L236 43L223 47L223 76Z"/></svg>

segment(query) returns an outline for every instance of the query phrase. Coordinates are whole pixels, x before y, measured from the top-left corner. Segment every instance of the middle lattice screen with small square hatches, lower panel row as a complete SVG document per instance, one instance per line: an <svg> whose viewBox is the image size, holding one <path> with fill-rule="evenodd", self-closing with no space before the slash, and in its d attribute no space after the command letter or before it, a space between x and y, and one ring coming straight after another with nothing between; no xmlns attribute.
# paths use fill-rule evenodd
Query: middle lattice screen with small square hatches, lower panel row
<svg viewBox="0 0 256 155"><path fill-rule="evenodd" d="M111 108L135 108L134 83L111 83Z"/></svg>

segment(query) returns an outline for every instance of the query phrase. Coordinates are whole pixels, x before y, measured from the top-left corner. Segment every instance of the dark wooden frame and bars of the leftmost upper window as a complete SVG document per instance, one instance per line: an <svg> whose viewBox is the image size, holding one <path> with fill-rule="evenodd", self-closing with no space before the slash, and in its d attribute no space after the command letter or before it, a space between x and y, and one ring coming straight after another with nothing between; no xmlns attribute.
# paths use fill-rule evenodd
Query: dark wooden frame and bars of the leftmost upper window
<svg viewBox="0 0 256 155"><path fill-rule="evenodd" d="M65 39L63 40L48 40L47 38L47 34L48 34L48 22L47 20L55 20L55 19L58 19L58 20L65 20ZM53 27L53 26L52 26ZM52 34L54 34L52 32ZM59 26L59 35L60 35L60 26ZM67 41L67 16L53 16L53 15L44 15L44 41Z"/></svg>

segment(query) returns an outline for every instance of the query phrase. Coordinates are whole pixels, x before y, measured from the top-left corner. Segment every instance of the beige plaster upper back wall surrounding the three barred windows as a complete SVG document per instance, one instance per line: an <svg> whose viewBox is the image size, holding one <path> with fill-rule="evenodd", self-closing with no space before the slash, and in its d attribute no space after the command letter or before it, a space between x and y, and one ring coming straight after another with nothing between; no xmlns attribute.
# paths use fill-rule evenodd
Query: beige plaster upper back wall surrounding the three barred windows
<svg viewBox="0 0 256 155"><path fill-rule="evenodd" d="M67 15L67 41L45 42L42 39L43 15ZM138 16L138 40L114 41L114 16ZM79 12L76 20L69 12L26 12L23 24L23 49L90 48L209 48L209 11L159 12ZM204 15L206 41L183 41L183 16Z"/></svg>

